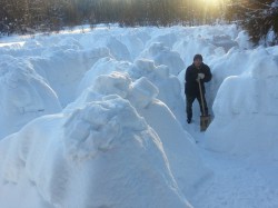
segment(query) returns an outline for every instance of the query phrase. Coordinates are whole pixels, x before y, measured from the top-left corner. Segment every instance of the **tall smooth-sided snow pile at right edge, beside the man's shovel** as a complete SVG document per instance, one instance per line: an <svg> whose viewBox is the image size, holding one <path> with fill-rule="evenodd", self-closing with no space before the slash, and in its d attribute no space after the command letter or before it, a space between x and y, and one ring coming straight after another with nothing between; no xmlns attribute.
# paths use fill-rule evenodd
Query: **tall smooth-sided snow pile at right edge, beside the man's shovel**
<svg viewBox="0 0 278 208"><path fill-rule="evenodd" d="M207 147L277 159L278 57L264 48L240 55L237 72L225 79L217 93ZM232 57L226 61L226 66L235 66Z"/></svg>

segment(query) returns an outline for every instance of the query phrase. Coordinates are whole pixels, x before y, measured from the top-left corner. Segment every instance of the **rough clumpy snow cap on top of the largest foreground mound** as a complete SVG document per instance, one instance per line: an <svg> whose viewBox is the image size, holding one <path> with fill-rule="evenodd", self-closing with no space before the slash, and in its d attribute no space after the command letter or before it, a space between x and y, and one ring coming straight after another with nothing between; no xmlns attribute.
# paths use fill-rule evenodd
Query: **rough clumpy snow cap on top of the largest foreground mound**
<svg viewBox="0 0 278 208"><path fill-rule="evenodd" d="M128 102L120 97L105 97L103 99L103 101L97 101L91 107L87 105L86 110L76 110L66 121L64 146L67 155L72 160L93 158L99 151L111 149L113 140L120 137L121 126L130 126L138 131L146 126L142 118L136 123L129 122L129 119L138 115L133 115L135 109L127 106ZM126 108L130 108L129 110L132 111L125 112ZM122 115L122 112L125 113ZM129 119L123 119L121 116L128 116ZM88 156L86 157L86 155Z"/></svg>

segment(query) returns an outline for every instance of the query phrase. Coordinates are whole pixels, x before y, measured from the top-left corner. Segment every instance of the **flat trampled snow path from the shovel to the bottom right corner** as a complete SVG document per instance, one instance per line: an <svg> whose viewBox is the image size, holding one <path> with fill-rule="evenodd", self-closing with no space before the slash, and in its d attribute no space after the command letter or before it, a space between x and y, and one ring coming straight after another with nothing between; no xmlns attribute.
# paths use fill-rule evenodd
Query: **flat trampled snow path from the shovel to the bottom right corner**
<svg viewBox="0 0 278 208"><path fill-rule="evenodd" d="M278 162L254 160L249 157L229 156L203 148L205 133L198 122L188 127L198 141L203 164L214 170L211 179L199 185L190 196L195 208L277 208Z"/></svg>

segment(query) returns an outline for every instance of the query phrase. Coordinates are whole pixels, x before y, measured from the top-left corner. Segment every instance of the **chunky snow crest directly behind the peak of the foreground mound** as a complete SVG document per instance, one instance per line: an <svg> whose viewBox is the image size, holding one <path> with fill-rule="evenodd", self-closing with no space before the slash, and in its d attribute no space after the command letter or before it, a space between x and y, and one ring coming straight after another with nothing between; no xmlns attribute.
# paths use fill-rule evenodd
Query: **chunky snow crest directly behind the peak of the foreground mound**
<svg viewBox="0 0 278 208"><path fill-rule="evenodd" d="M132 81L128 73L113 71L110 75L97 77L91 88L88 88L66 110L75 108L77 105L96 101L103 96L111 95L130 100L135 107L146 108L153 101L158 93L159 89L148 78L141 77Z"/></svg>

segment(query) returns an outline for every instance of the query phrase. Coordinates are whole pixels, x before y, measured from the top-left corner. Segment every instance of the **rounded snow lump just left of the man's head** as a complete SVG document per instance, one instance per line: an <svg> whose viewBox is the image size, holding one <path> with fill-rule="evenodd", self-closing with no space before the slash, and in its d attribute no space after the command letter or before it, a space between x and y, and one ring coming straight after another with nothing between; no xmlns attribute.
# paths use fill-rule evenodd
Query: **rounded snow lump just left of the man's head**
<svg viewBox="0 0 278 208"><path fill-rule="evenodd" d="M165 65L169 67L170 73L177 76L182 69L185 69L185 63L177 51L170 50L161 42L152 43L147 50L141 55L141 58L152 59L157 66Z"/></svg>

